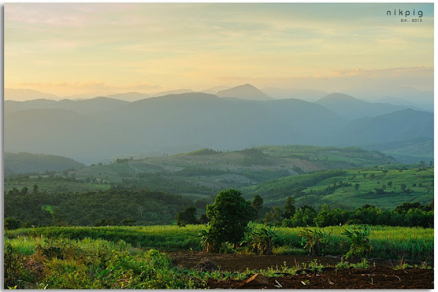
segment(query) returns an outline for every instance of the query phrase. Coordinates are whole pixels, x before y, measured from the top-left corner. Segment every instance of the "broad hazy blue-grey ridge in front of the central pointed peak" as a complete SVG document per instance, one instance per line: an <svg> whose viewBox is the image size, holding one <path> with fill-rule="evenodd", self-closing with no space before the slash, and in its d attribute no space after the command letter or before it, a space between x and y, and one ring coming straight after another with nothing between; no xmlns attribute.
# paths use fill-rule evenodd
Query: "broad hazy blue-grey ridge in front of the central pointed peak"
<svg viewBox="0 0 438 292"><path fill-rule="evenodd" d="M260 103L205 93L132 103L96 98L65 102L69 114L59 108L61 101L58 103L58 108L44 110L24 110L30 103L18 104L23 110L16 107L14 111L6 103L5 108L10 109L5 110L5 150L49 153L92 163L170 146L170 154L175 154L189 145L197 145L192 149L242 149L272 143L313 144L320 134L342 125L333 112L298 99ZM36 125L38 134L34 133ZM27 143L29 136L33 143Z"/></svg>

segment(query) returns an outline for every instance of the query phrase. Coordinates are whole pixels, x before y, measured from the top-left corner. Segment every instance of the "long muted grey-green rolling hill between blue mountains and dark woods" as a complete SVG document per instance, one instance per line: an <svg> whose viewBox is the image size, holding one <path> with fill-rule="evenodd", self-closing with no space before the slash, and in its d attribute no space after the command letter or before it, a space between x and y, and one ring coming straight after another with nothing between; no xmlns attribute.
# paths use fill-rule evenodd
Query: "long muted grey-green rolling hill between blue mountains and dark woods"
<svg viewBox="0 0 438 292"><path fill-rule="evenodd" d="M359 148L263 146L240 151L198 149L173 156L137 156L57 173L53 178L11 179L5 189L38 184L41 191L101 190L111 186L177 193L209 199L227 188L324 169L346 169L396 163L376 151Z"/></svg>

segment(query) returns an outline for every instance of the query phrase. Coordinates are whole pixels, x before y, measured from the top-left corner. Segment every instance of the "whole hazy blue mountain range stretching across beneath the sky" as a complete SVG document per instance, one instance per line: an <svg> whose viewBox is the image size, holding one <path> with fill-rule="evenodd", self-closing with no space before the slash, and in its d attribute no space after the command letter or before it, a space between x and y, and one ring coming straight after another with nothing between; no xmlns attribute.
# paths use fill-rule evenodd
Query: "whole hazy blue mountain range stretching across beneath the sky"
<svg viewBox="0 0 438 292"><path fill-rule="evenodd" d="M259 100L246 100L249 92ZM5 151L55 154L91 163L202 147L365 147L415 138L433 140L433 113L409 106L370 103L343 94L315 102L273 99L250 84L220 90L218 95L179 93L133 102L108 97L7 100ZM403 150L397 149L385 151L403 156ZM421 156L413 149L425 151L411 144L407 156Z"/></svg>

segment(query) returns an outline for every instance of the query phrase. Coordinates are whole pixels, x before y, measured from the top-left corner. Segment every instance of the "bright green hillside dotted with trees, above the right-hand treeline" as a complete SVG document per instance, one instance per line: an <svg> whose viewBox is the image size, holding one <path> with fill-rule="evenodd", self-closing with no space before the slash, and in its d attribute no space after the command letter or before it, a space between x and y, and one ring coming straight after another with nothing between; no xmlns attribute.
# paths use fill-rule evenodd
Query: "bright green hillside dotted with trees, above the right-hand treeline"
<svg viewBox="0 0 438 292"><path fill-rule="evenodd" d="M427 204L433 200L433 168L385 165L317 171L263 182L242 191L248 198L260 195L267 206L283 205L285 198L292 195L298 206L327 204L331 208L350 209L372 204L395 208L403 202Z"/></svg>

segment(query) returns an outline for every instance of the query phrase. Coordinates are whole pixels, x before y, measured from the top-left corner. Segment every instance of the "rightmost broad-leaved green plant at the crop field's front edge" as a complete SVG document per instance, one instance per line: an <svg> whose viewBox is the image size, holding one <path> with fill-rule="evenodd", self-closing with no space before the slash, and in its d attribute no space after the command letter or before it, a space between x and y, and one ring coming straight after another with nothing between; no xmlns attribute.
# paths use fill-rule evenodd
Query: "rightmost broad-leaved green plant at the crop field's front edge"
<svg viewBox="0 0 438 292"><path fill-rule="evenodd" d="M343 235L347 236L350 243L350 250L345 255L345 258L355 256L366 258L370 254L372 248L369 238L370 232L370 227L366 225L361 227L350 226L350 228L342 232Z"/></svg>

